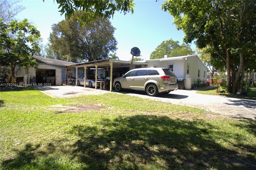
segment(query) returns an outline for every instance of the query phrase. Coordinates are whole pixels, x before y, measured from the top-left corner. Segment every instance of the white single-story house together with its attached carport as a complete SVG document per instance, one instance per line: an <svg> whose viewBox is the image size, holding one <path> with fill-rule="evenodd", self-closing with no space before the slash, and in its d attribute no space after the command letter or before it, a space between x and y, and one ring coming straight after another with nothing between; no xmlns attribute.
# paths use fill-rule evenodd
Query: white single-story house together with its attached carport
<svg viewBox="0 0 256 170"><path fill-rule="evenodd" d="M196 83L197 79L206 81L207 67L199 59L198 55L186 55L180 57L168 57L162 59L150 59L146 61L121 61L115 59L104 59L90 61L66 66L66 69L76 69L72 72L72 77L82 77L93 74L97 83L98 78L110 77L110 91L112 91L112 81L115 77L120 77L130 69L142 67L165 67L170 68L178 78L183 79L189 86ZM81 71L82 70L82 71ZM97 70L97 71L96 71ZM103 75L103 77L99 75ZM187 80L187 81L186 81ZM189 83L188 83L189 82ZM95 86L95 88L97 85Z"/></svg>

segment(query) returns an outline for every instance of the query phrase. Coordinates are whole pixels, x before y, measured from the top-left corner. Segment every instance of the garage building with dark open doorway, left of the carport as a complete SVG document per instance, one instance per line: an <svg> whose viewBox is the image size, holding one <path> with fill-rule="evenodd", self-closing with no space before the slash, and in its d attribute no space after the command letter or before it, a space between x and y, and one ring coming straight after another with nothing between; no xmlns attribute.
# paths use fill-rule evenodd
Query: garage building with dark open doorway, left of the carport
<svg viewBox="0 0 256 170"><path fill-rule="evenodd" d="M62 85L62 82L66 81L67 74L67 70L64 67L77 64L36 55L33 55L32 58L38 62L38 68L17 68L15 74L17 82L23 82L25 84L43 83L44 85L45 83L51 83L51 85ZM69 71L73 70L70 69Z"/></svg>

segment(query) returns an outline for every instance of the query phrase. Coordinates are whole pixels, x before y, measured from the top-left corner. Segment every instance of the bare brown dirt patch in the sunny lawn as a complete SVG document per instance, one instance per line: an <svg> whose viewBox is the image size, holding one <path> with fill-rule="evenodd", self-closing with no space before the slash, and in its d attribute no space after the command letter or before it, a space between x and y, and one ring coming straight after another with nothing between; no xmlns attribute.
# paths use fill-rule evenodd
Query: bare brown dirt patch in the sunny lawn
<svg viewBox="0 0 256 170"><path fill-rule="evenodd" d="M76 106L62 106L62 105L54 105L52 109L56 114L59 113L67 113L67 112L82 112L82 111L90 111L90 110L100 110L104 109L103 105L76 105Z"/></svg>

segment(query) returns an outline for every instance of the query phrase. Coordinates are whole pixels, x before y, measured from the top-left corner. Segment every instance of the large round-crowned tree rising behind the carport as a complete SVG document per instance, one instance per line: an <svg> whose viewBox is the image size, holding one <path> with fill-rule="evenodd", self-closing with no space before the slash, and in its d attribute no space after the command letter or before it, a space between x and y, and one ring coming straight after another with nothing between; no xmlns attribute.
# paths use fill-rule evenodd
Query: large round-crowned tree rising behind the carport
<svg viewBox="0 0 256 170"><path fill-rule="evenodd" d="M73 62L106 59L117 49L115 28L104 18L81 24L77 18L80 13L52 26L49 42L54 57Z"/></svg>

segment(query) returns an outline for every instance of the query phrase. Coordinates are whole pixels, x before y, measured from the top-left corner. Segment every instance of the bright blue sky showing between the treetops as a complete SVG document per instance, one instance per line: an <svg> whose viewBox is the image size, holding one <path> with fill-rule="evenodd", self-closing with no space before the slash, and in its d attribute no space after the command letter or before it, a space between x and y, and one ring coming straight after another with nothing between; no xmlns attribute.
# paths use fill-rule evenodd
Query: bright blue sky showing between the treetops
<svg viewBox="0 0 256 170"><path fill-rule="evenodd" d="M132 58L132 47L140 49L140 55L149 59L150 54L160 43L166 40L174 40L182 43L184 33L172 24L173 17L161 9L163 0L135 0L134 14L124 15L116 12L110 19L112 26L116 28L114 37L118 44L116 51L119 59L128 61ZM27 18L40 31L43 43L48 42L51 26L64 20L58 12L58 4L54 0L22 0L20 5L26 9L20 12L16 18ZM192 49L195 45L191 45Z"/></svg>

